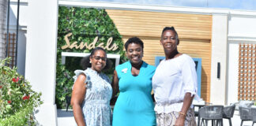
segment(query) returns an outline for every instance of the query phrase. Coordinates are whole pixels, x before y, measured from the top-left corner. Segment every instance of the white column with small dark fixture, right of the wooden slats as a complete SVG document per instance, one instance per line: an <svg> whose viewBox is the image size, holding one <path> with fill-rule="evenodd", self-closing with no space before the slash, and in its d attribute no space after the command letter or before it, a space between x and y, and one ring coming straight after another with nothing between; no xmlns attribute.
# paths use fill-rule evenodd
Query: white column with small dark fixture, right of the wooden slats
<svg viewBox="0 0 256 126"><path fill-rule="evenodd" d="M226 100L228 15L213 14L210 102L224 105ZM220 78L217 63L220 62Z"/></svg>

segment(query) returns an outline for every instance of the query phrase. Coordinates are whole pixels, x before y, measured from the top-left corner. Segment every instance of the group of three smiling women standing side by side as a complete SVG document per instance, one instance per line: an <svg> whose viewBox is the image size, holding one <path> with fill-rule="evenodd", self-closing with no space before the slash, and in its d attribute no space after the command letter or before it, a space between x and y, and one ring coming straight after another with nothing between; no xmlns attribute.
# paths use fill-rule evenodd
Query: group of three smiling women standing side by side
<svg viewBox="0 0 256 126"><path fill-rule="evenodd" d="M144 46L141 39L133 37L125 43L129 61L115 68L112 80L114 95L120 91L115 103L113 126L152 126L156 122L159 126L195 125L191 109L197 92L194 61L178 52L179 37L175 28L164 28L160 43L166 58L157 69L142 61ZM71 99L73 114L77 125L109 126L112 88L107 76L101 73L106 66L107 54L97 47L92 50L89 60L91 69L75 71Z"/></svg>

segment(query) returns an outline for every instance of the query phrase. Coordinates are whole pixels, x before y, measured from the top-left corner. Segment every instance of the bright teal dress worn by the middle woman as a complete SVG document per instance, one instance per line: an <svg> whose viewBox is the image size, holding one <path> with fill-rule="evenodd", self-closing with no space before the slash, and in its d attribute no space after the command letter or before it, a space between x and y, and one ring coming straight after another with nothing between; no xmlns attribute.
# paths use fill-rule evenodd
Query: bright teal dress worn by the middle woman
<svg viewBox="0 0 256 126"><path fill-rule="evenodd" d="M119 98L115 102L112 126L156 125L152 102L152 76L156 68L143 61L137 76L131 74L130 61L118 65Z"/></svg>

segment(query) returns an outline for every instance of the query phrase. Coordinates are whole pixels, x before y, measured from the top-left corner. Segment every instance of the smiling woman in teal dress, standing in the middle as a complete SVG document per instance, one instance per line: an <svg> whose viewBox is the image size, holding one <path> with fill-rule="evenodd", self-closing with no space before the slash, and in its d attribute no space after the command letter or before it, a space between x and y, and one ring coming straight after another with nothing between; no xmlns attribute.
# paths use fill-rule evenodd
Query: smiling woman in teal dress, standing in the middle
<svg viewBox="0 0 256 126"><path fill-rule="evenodd" d="M120 91L113 112L113 126L156 125L156 114L152 102L152 76L155 67L145 63L143 42L137 37L125 43L129 61L115 68L112 88L113 95Z"/></svg>

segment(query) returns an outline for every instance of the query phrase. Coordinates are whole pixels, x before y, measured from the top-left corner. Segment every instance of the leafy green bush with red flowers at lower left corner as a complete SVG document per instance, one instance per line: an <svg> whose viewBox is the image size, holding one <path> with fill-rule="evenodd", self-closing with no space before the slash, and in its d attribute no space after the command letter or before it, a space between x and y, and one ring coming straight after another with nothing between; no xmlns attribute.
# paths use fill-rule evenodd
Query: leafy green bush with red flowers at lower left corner
<svg viewBox="0 0 256 126"><path fill-rule="evenodd" d="M0 60L0 125L35 125L33 110L43 102L41 93L17 73L17 68L6 66L10 58Z"/></svg>

